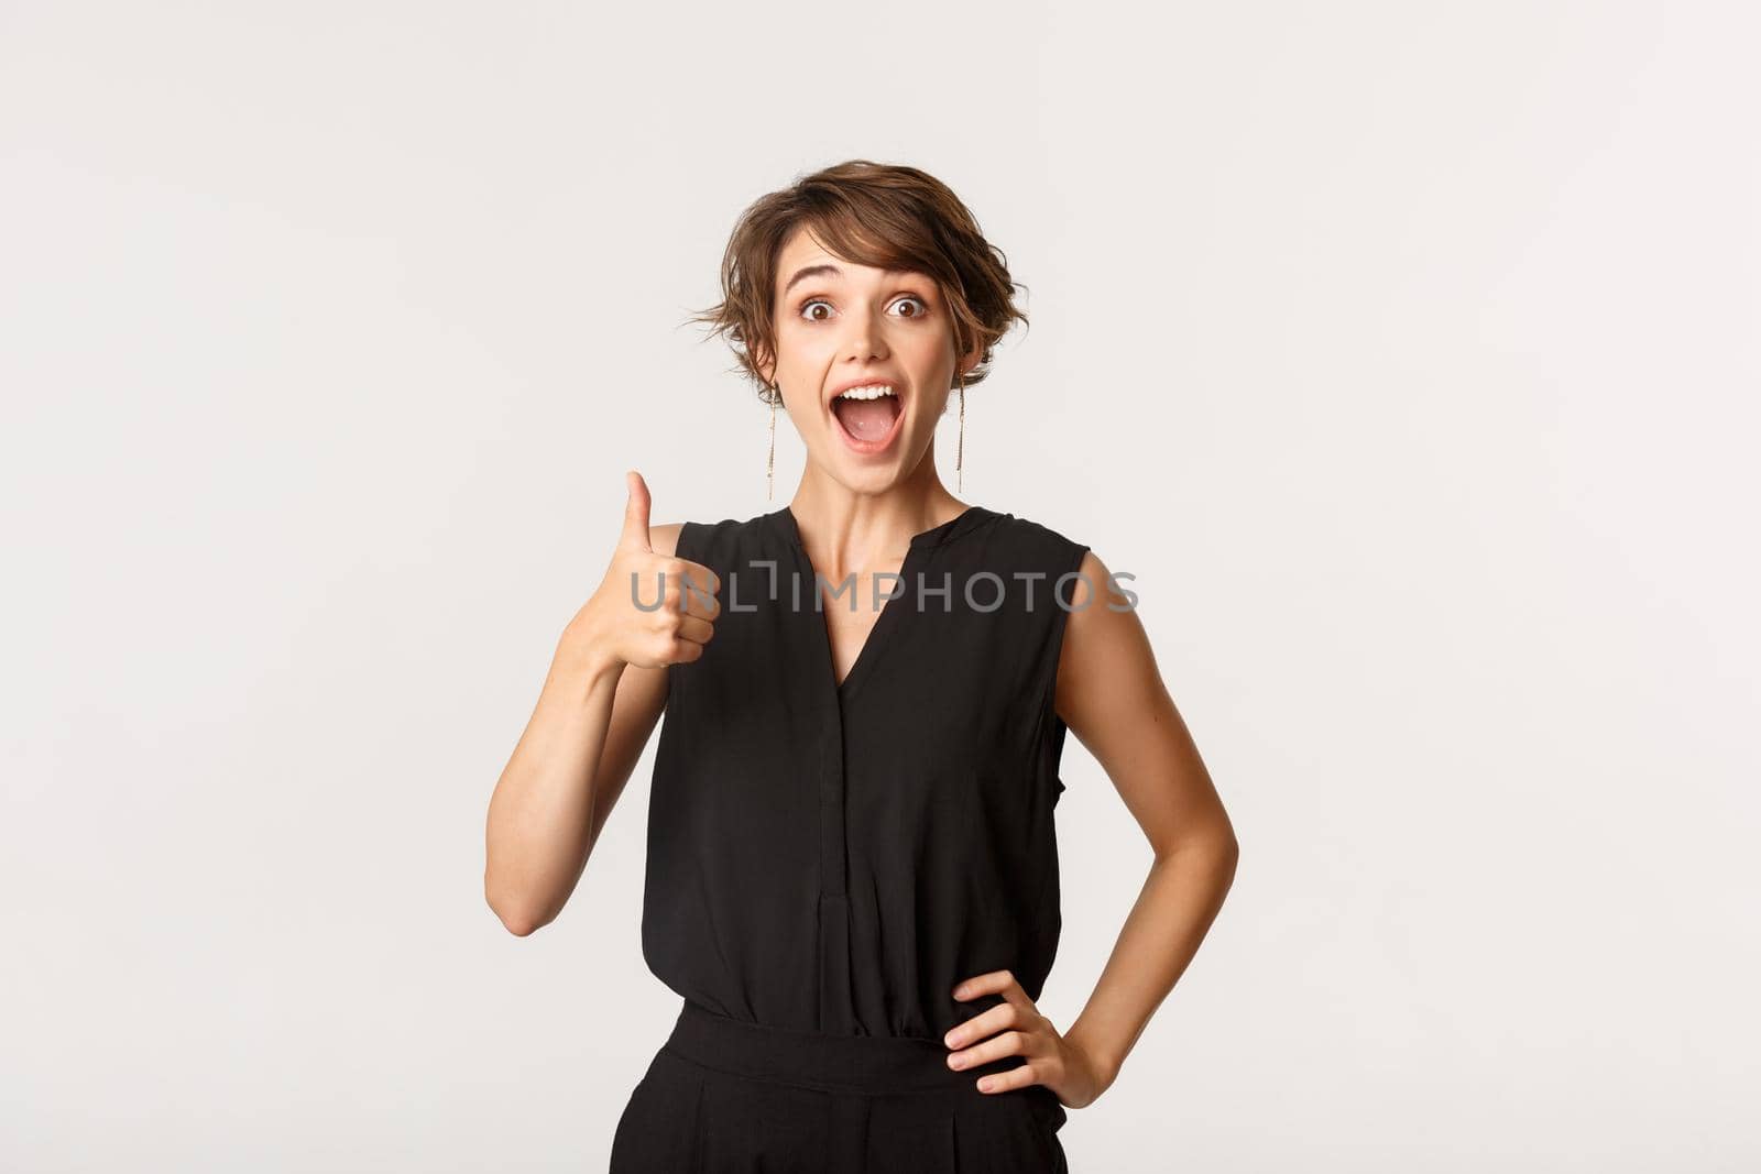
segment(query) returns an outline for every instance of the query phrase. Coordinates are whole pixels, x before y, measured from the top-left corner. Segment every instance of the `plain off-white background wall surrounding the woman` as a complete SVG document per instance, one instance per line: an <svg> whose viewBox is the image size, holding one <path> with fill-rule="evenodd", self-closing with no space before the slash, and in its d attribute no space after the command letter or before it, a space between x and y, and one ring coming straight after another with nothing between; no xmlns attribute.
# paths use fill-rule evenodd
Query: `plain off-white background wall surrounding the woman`
<svg viewBox="0 0 1761 1174"><path fill-rule="evenodd" d="M1138 576L1242 838L1072 1169L1756 1169L1757 33L5 4L0 1167L604 1167L652 759L530 938L488 796L623 470L792 491L682 322L866 157L1030 289L962 496ZM1148 848L1065 781L1067 1026Z"/></svg>

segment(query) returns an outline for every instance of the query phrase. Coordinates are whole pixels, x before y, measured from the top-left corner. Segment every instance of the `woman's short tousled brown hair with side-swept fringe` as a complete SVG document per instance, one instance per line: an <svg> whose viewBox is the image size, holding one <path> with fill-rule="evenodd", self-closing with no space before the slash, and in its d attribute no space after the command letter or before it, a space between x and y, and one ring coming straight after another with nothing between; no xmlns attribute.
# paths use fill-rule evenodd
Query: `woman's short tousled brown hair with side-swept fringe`
<svg viewBox="0 0 1761 1174"><path fill-rule="evenodd" d="M766 401L759 357L777 354L777 259L799 227L854 264L935 278L953 312L956 371L960 357L983 343L967 387L984 382L991 349L1011 320L1027 322L1014 305L1014 290L1025 285L1009 278L1007 257L946 183L916 167L852 158L754 201L722 257L722 301L687 319L729 341L740 359L734 371L745 371Z"/></svg>

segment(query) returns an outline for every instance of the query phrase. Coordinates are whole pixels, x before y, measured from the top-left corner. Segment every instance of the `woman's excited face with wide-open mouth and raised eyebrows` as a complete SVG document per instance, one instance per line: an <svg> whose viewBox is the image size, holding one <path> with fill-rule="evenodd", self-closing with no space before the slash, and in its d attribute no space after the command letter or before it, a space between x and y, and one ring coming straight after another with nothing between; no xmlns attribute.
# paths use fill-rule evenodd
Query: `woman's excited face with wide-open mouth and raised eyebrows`
<svg viewBox="0 0 1761 1174"><path fill-rule="evenodd" d="M808 459L858 493L903 481L930 451L954 382L953 319L935 280L851 264L799 229L778 257L773 315L766 373ZM965 370L977 359L967 356ZM893 394L840 398L868 385Z"/></svg>

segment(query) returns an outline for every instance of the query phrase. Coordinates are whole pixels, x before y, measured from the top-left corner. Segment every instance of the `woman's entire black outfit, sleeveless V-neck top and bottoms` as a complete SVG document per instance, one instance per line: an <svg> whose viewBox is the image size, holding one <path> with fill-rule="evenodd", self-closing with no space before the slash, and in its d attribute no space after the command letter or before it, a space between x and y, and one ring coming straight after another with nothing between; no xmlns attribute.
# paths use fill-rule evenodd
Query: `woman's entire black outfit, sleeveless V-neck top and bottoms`
<svg viewBox="0 0 1761 1174"><path fill-rule="evenodd" d="M1057 954L1088 547L981 505L916 535L842 685L822 609L873 600L815 579L787 507L676 549L722 579L715 637L667 671L648 806L643 954L683 1005L613 1174L1065 1169L1050 1090L976 1090L1021 1058L953 1070L942 1037L1002 1002L962 979L1037 1000Z"/></svg>

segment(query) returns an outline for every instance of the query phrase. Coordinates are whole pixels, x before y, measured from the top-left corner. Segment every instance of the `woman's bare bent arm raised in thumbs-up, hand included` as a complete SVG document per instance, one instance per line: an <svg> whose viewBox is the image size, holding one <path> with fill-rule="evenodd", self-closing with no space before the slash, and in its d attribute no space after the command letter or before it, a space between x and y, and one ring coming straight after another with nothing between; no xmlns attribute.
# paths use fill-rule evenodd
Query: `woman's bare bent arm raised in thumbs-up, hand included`
<svg viewBox="0 0 1761 1174"><path fill-rule="evenodd" d="M641 532L641 547L632 547L641 565L678 567L678 523L650 532L646 488L641 498L639 526L634 514L627 517L625 539ZM484 898L521 936L555 921L569 901L666 709L667 664L629 649L634 625L659 628L669 620L664 613L636 613L627 584L629 570L615 560L602 590L565 625L532 718L490 796ZM713 600L708 604L706 611L701 602L678 605L671 623L685 635L659 653L660 660L701 655L718 611ZM690 653L692 646L699 651ZM655 644L645 648L652 653Z"/></svg>

